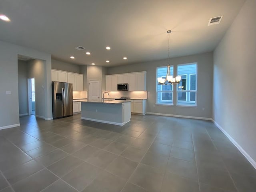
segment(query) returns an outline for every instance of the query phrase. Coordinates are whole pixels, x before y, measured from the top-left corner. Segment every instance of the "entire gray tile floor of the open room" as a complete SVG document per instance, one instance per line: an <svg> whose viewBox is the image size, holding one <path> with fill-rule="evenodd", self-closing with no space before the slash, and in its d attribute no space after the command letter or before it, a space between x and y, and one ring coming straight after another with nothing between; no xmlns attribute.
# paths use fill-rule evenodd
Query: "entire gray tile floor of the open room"
<svg viewBox="0 0 256 192"><path fill-rule="evenodd" d="M254 192L256 170L209 121L125 126L20 118L0 130L0 192Z"/></svg>

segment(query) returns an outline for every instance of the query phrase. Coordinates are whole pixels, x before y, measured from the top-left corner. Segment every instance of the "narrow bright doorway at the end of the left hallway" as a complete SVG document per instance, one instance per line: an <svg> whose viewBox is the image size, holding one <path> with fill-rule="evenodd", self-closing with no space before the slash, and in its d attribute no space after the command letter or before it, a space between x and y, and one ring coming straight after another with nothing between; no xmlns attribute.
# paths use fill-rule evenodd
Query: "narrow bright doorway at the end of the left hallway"
<svg viewBox="0 0 256 192"><path fill-rule="evenodd" d="M28 114L36 115L35 78L28 78Z"/></svg>

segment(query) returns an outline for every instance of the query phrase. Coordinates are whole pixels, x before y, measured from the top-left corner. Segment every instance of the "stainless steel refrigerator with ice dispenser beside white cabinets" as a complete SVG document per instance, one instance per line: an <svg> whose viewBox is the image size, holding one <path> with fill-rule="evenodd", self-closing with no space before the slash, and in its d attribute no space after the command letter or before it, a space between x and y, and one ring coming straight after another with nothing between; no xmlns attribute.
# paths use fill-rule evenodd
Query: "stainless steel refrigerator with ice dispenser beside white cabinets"
<svg viewBox="0 0 256 192"><path fill-rule="evenodd" d="M54 119L73 115L73 84L52 82L52 116Z"/></svg>

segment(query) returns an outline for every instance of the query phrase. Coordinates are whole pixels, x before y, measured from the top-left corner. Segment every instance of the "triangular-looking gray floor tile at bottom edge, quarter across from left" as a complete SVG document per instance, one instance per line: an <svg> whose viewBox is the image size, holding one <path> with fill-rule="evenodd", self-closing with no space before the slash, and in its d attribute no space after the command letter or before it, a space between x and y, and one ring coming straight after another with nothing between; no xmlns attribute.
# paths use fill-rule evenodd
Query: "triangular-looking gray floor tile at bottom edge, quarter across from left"
<svg viewBox="0 0 256 192"><path fill-rule="evenodd" d="M66 184L62 180L57 180L41 192L77 192L74 188Z"/></svg>

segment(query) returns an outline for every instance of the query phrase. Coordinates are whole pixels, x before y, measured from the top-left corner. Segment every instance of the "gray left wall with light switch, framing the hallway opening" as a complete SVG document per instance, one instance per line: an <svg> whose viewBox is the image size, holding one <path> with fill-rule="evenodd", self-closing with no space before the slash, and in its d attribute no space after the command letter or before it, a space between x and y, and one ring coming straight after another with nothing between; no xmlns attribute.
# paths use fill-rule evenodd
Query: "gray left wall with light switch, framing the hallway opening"
<svg viewBox="0 0 256 192"><path fill-rule="evenodd" d="M18 54L46 61L44 96L46 118L52 118L51 55L0 41L0 129L19 124ZM10 91L10 95L6 95Z"/></svg>

